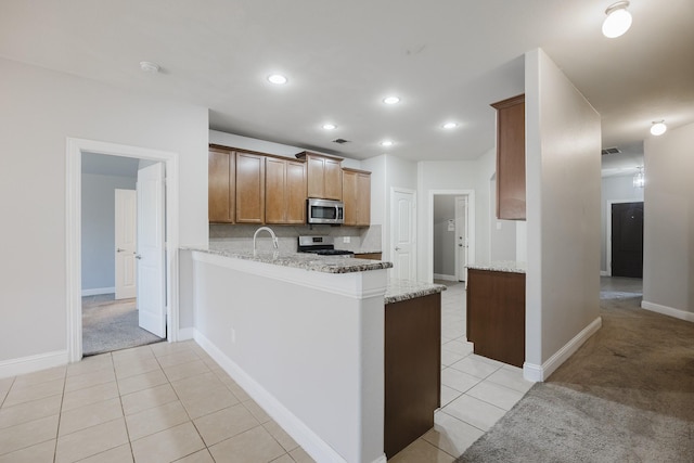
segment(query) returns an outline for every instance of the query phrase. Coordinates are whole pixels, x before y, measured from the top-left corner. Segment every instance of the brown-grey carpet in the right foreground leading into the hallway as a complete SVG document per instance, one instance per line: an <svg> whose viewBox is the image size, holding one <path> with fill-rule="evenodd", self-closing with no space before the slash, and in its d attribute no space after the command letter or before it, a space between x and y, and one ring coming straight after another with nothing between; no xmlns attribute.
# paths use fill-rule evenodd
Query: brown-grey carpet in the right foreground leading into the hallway
<svg viewBox="0 0 694 463"><path fill-rule="evenodd" d="M604 292L603 327L458 462L694 462L694 323Z"/></svg>

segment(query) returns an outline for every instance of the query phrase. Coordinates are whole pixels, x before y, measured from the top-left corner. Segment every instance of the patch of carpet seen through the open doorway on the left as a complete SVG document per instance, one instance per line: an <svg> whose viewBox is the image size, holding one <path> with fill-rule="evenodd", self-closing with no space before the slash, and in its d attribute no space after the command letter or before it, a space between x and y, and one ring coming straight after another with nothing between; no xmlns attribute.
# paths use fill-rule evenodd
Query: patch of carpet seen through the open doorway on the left
<svg viewBox="0 0 694 463"><path fill-rule="evenodd" d="M136 299L113 294L82 298L82 355L111 352L163 340L138 325Z"/></svg>

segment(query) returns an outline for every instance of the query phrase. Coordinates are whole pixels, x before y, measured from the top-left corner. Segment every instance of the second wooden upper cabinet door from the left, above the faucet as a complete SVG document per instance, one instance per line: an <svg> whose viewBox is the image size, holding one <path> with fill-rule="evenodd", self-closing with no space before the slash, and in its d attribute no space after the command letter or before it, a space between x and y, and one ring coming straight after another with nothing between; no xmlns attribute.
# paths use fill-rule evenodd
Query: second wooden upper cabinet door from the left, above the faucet
<svg viewBox="0 0 694 463"><path fill-rule="evenodd" d="M236 153L236 223L265 222L265 159Z"/></svg>

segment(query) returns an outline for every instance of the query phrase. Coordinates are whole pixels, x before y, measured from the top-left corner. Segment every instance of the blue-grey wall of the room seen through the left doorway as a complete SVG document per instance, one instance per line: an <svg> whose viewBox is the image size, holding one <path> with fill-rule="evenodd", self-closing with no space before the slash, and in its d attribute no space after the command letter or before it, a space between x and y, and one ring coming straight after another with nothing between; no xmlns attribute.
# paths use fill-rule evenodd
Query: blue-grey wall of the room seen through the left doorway
<svg viewBox="0 0 694 463"><path fill-rule="evenodd" d="M115 191L134 190L137 178L82 173L82 291L116 285Z"/></svg>

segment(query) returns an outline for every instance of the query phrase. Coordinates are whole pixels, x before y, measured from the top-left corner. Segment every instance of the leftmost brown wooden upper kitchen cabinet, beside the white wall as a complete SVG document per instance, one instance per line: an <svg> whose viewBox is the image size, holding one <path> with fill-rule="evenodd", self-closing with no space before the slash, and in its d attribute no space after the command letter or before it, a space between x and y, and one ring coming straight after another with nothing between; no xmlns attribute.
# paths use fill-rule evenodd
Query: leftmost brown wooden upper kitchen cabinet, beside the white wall
<svg viewBox="0 0 694 463"><path fill-rule="evenodd" d="M235 152L210 145L208 164L208 220L210 223L234 223L235 219Z"/></svg>

